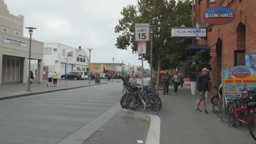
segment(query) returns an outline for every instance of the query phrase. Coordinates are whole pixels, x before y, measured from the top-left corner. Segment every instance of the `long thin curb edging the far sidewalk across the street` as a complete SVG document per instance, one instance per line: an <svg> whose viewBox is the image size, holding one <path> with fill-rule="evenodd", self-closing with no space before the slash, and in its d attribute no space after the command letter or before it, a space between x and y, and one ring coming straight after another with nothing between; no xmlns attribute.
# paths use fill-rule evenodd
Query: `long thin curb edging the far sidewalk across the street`
<svg viewBox="0 0 256 144"><path fill-rule="evenodd" d="M107 83L99 83L99 84L93 84L93 85L83 85L83 86L77 86L77 87L70 87L70 88L59 88L59 89L54 89L54 90L48 90L48 91L37 91L37 92L32 92L32 93L22 93L22 94L17 94L17 95L12 95L12 96L5 96L1 97L0 101L6 100L6 99L14 99L14 98L19 98L19 97L24 97L24 96L32 96L36 94L43 94L43 93L52 93L56 91L65 91L65 90L71 90L75 88L85 88L89 86L94 86L94 85L104 85Z"/></svg>

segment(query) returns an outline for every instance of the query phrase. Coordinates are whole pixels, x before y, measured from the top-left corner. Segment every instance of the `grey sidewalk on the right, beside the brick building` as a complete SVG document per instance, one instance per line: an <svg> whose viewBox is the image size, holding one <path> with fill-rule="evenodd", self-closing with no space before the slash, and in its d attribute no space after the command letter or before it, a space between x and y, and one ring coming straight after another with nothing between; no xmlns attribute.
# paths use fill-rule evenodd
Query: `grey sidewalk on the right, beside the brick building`
<svg viewBox="0 0 256 144"><path fill-rule="evenodd" d="M212 104L206 103L209 114L195 112L197 95L189 87L178 89L173 95L159 90L163 107L157 114L161 118L160 144L255 144L247 127L228 127L214 114ZM199 107L202 109L202 107Z"/></svg>

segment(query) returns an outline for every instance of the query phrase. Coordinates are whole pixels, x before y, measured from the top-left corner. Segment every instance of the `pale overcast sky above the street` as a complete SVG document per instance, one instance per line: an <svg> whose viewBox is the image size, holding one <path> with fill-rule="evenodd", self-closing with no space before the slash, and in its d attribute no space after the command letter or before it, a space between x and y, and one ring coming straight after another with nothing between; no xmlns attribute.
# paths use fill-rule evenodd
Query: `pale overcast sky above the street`
<svg viewBox="0 0 256 144"><path fill-rule="evenodd" d="M131 49L115 48L114 28L123 7L137 0L4 0L11 14L24 16L24 27L36 27L32 38L74 48L93 48L91 62L124 61L141 65ZM24 37L29 37L24 29ZM144 67L149 68L147 61Z"/></svg>

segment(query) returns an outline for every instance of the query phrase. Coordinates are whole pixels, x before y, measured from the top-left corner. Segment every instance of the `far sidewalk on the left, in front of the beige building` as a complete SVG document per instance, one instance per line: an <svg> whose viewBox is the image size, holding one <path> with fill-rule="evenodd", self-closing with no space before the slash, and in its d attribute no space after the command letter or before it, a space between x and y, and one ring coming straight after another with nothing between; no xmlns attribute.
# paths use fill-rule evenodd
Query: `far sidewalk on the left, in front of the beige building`
<svg viewBox="0 0 256 144"><path fill-rule="evenodd" d="M121 81L120 79L114 80L115 82ZM112 83L111 81L101 80L101 84ZM90 85L95 85L95 81L92 81ZM0 85L0 99L5 99L10 96L28 95L35 92L49 91L49 90L60 90L64 88L88 86L88 80L58 80L57 87L47 86L47 80L44 80L42 84L31 84L31 92L27 92L27 84L4 84Z"/></svg>

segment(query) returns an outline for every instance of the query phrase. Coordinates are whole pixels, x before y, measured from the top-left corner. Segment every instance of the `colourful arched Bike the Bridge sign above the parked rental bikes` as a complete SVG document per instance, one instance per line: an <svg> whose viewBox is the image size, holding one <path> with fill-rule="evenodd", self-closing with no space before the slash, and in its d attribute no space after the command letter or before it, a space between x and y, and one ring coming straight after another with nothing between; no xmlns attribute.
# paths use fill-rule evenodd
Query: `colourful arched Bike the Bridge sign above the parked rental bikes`
<svg viewBox="0 0 256 144"><path fill-rule="evenodd" d="M224 73L222 83L223 97L240 96L243 90L256 88L256 70L245 66L232 67Z"/></svg>

